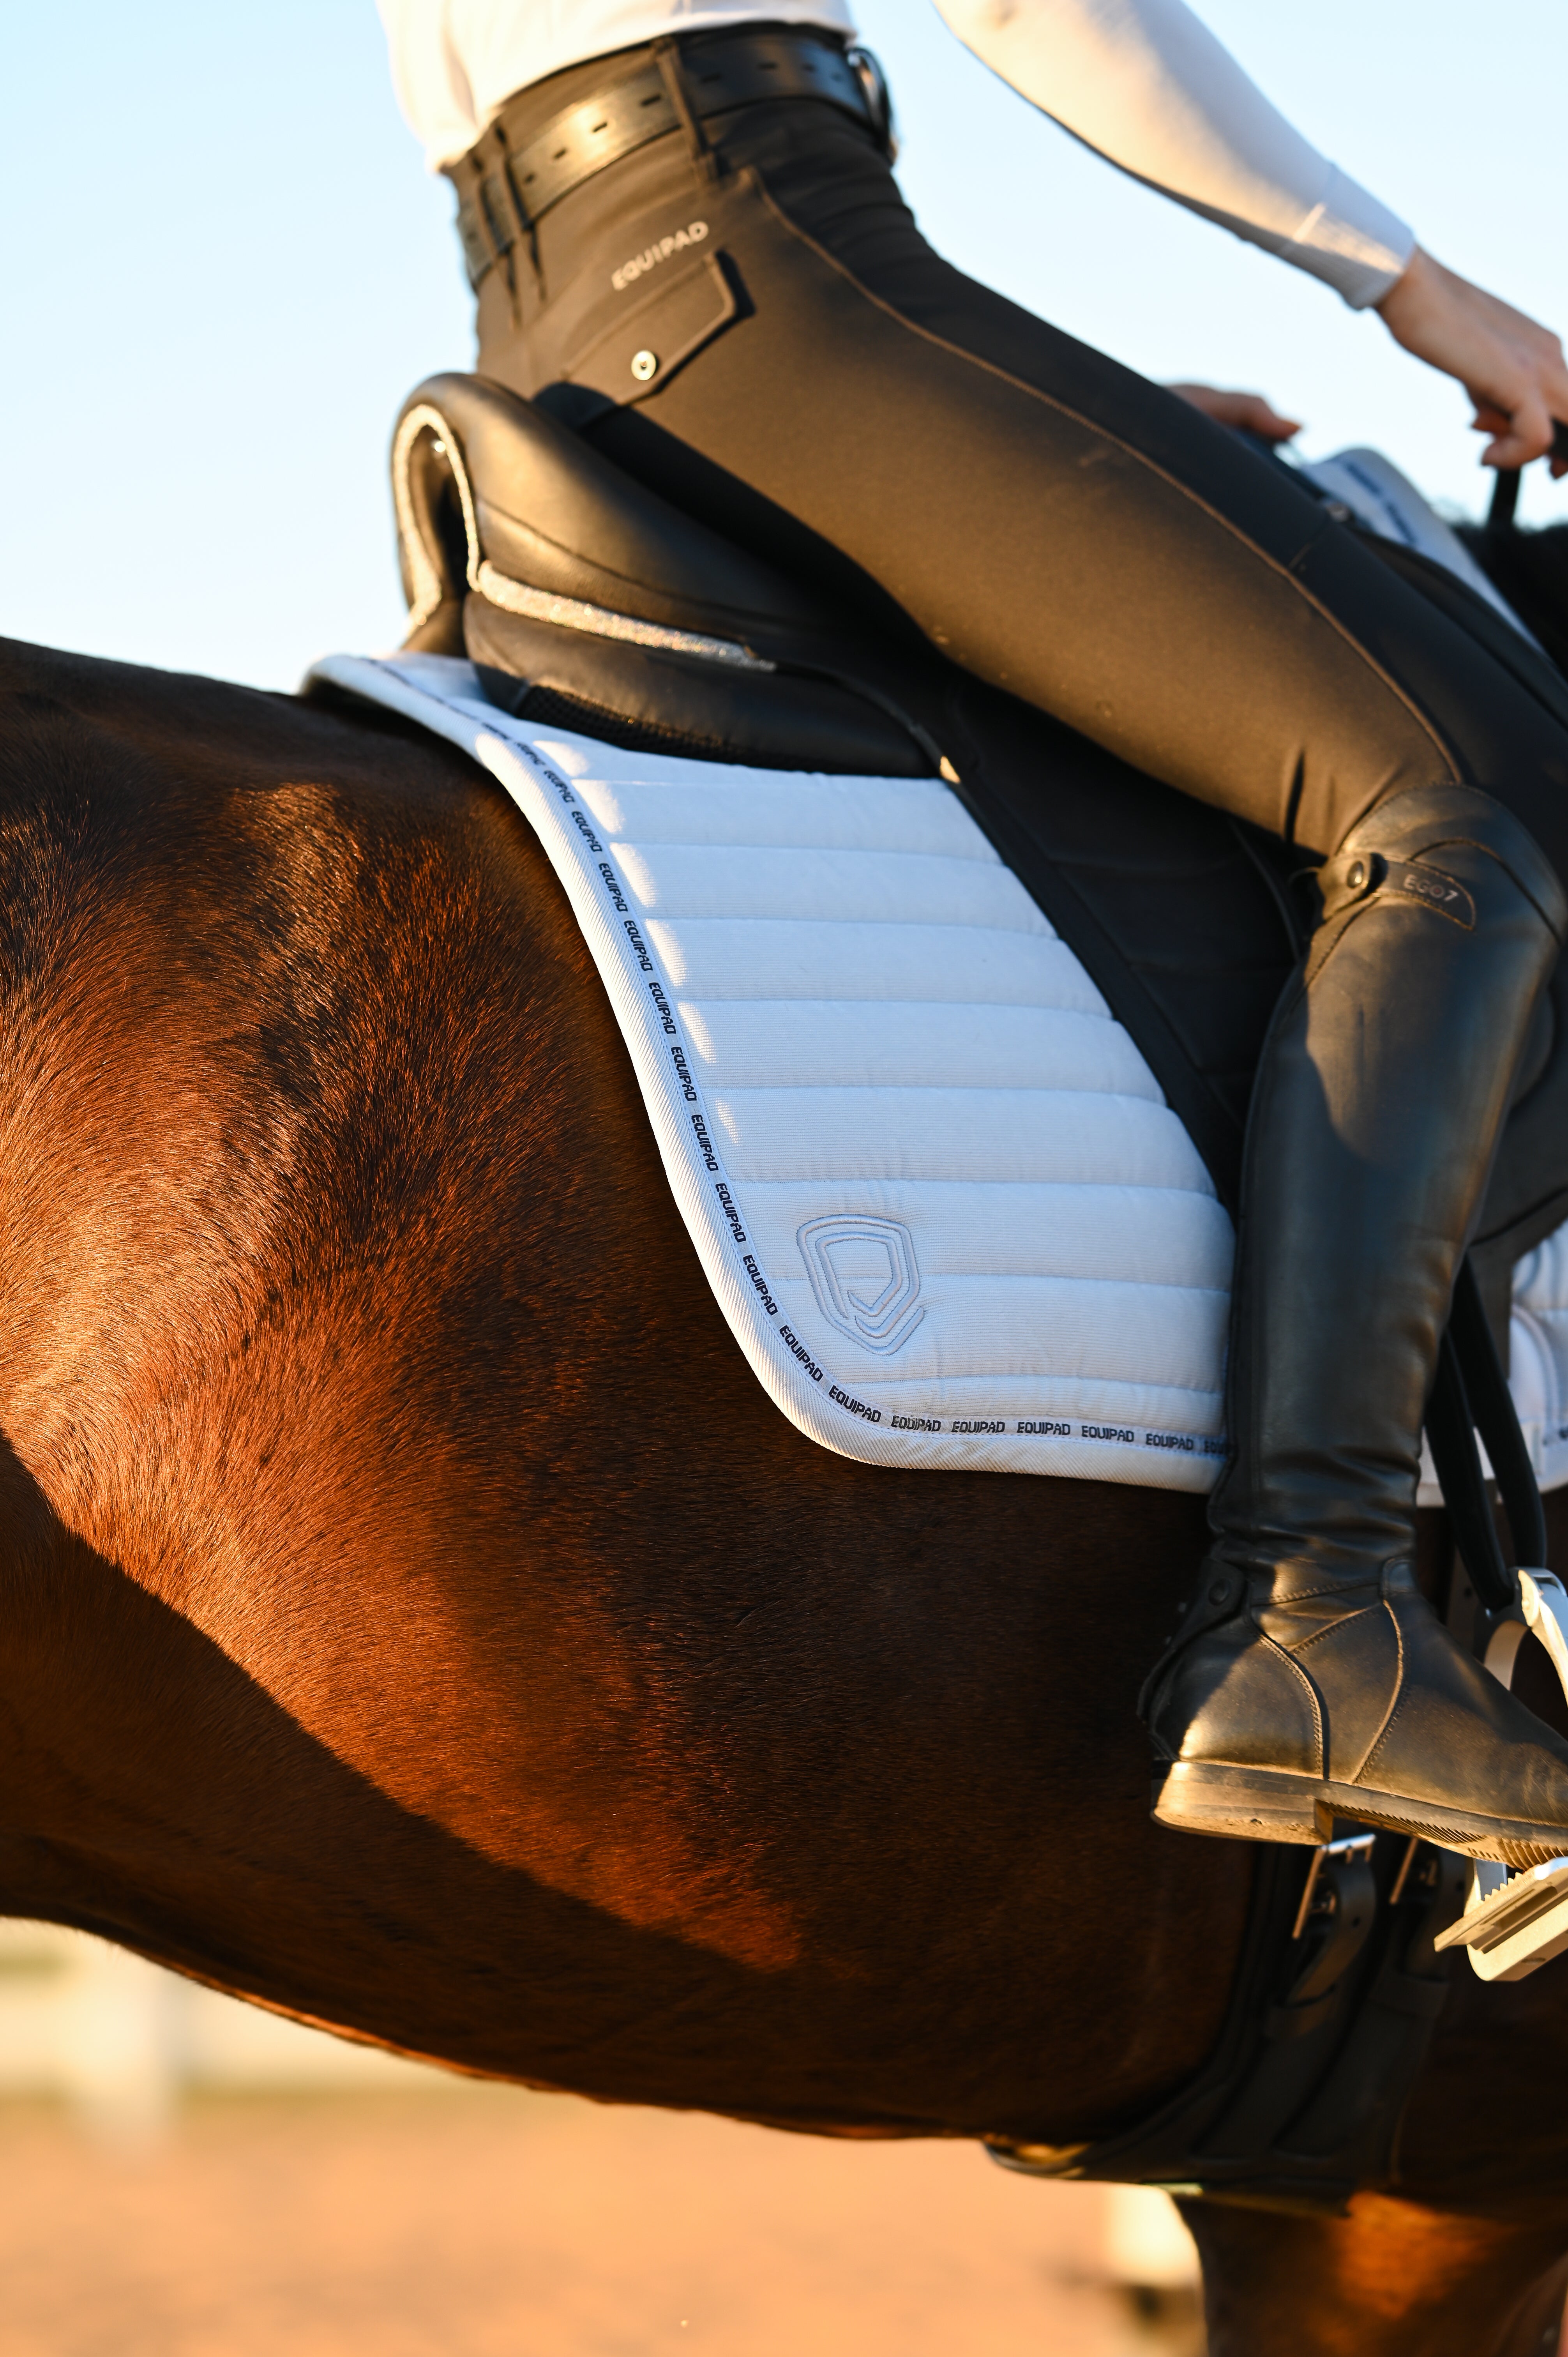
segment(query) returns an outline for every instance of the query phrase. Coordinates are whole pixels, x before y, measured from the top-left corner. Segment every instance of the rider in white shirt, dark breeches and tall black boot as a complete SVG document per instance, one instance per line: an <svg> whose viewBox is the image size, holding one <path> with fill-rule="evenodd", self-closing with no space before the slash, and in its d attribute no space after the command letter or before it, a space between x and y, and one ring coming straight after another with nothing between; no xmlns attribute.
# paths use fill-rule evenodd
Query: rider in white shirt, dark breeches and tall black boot
<svg viewBox="0 0 1568 2357"><path fill-rule="evenodd" d="M1556 337L1422 252L1181 0L936 5L1122 170L1375 306L1469 389L1490 464L1549 448ZM1311 853L1323 915L1247 1131L1233 1457L1148 1688L1158 1815L1566 1850L1568 1744L1412 1577L1436 1348L1568 929L1561 676L1188 401L941 262L875 71L844 71L844 0L382 14L460 193L486 377L566 387L559 415L679 507L877 585L967 669ZM644 106L660 130L627 146ZM585 356L625 344L634 304L639 351L606 382Z"/></svg>

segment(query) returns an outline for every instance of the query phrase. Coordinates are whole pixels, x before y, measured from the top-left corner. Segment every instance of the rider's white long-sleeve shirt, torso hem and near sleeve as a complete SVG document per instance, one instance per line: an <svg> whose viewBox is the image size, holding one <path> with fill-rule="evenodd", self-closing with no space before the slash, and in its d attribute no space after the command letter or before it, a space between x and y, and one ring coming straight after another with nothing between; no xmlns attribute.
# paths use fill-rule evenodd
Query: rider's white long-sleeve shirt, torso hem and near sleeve
<svg viewBox="0 0 1568 2357"><path fill-rule="evenodd" d="M431 170L465 156L514 90L660 33L821 24L846 0L377 0L391 75ZM1184 0L936 0L964 47L1122 172L1327 280L1389 292L1412 231L1320 156Z"/></svg>

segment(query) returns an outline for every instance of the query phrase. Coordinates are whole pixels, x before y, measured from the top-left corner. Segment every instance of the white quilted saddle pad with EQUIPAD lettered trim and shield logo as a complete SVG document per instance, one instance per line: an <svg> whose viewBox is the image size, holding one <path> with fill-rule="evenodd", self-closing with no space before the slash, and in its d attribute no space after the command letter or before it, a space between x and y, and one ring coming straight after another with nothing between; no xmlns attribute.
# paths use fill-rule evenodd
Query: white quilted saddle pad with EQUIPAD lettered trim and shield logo
<svg viewBox="0 0 1568 2357"><path fill-rule="evenodd" d="M538 832L714 1296L804 1433L870 1464L1214 1483L1231 1221L941 780L620 752L434 655L314 676L462 745ZM1568 1233L1521 1263L1514 1388L1568 1480Z"/></svg>

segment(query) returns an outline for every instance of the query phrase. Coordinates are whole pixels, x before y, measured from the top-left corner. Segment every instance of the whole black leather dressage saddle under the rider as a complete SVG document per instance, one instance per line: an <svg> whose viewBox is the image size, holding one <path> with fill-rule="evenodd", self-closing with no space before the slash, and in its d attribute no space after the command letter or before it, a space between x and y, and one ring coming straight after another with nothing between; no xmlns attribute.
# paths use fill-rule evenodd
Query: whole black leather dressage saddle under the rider
<svg viewBox="0 0 1568 2357"><path fill-rule="evenodd" d="M417 387L391 476L406 646L467 653L505 709L646 752L943 775L1089 969L1236 1209L1252 1075L1313 917L1309 851L1155 785L913 627L868 629L486 377ZM1448 575L1427 587L1450 610L1478 606ZM1511 636L1485 608L1476 627ZM1471 1249L1500 1339L1514 1259L1568 1219L1561 992L1559 976Z"/></svg>

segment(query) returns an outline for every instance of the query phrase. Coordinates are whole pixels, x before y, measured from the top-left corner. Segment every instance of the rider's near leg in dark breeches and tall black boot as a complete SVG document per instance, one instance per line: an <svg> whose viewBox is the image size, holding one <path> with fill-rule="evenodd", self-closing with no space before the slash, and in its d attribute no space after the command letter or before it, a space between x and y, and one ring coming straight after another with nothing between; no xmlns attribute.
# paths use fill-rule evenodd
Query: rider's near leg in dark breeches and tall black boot
<svg viewBox="0 0 1568 2357"><path fill-rule="evenodd" d="M535 276L490 273L481 368L528 394L571 377L620 247L700 217L740 318L594 436L710 521L858 568L1144 771L1330 856L1257 1089L1238 1457L1153 1695L1179 1761L1162 1813L1316 1838L1323 1805L1483 1855L1561 1850L1568 1747L1408 1577L1436 1339L1563 931L1561 681L1509 676L1278 469L931 257L846 118L797 101L726 123L717 179L665 139L556 205Z"/></svg>

